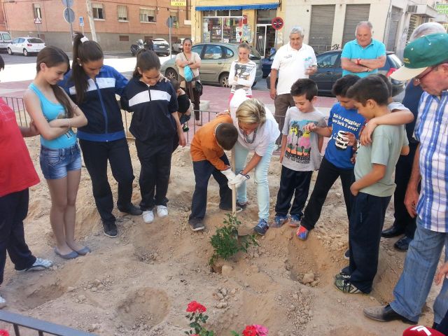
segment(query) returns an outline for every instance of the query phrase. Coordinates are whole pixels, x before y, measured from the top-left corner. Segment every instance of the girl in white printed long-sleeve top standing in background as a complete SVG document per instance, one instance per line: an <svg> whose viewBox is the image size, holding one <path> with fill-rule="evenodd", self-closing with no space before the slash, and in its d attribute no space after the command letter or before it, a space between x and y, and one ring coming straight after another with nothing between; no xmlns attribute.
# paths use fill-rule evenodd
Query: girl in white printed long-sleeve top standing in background
<svg viewBox="0 0 448 336"><path fill-rule="evenodd" d="M249 59L251 47L247 43L238 45L238 60L232 62L230 66L229 85L230 100L236 90L244 89L246 97L252 98L252 85L257 72L257 64Z"/></svg>

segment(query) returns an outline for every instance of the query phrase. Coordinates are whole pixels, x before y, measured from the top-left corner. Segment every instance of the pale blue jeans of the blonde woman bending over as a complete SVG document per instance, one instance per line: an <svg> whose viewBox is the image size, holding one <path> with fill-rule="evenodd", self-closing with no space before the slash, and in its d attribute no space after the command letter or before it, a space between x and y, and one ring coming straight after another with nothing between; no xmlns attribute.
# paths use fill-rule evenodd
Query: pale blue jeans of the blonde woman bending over
<svg viewBox="0 0 448 336"><path fill-rule="evenodd" d="M262 156L260 162L255 167L255 183L257 185L258 200L258 218L267 221L269 218L269 186L267 183L267 169L271 162L272 153L274 152L275 143L272 142L267 146L265 155ZM241 172L246 167L246 160L249 150L244 148L237 142L235 144L235 172ZM240 203L247 201L246 182L241 184L237 190L237 200Z"/></svg>

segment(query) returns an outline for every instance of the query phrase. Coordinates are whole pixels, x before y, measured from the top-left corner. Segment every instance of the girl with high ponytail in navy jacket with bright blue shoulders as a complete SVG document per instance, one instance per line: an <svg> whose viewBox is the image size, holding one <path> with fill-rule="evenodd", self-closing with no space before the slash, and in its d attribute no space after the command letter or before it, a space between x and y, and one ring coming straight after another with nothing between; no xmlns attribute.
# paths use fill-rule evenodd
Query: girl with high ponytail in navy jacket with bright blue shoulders
<svg viewBox="0 0 448 336"><path fill-rule="evenodd" d="M87 37L76 32L72 70L66 73L59 85L87 117L87 126L78 128L79 144L92 180L93 196L102 219L104 235L116 237L113 197L107 179L108 161L118 182L118 209L134 216L141 215L141 210L131 203L134 174L116 99L116 94L123 93L127 79L111 66L103 65L103 59L99 44L88 41Z"/></svg>

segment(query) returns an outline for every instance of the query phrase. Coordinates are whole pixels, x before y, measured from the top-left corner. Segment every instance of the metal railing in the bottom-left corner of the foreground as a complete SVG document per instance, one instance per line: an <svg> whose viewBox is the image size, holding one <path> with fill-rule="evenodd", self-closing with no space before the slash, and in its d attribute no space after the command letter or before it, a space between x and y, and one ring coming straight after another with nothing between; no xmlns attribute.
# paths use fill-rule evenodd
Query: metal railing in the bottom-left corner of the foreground
<svg viewBox="0 0 448 336"><path fill-rule="evenodd" d="M0 321L12 324L15 336L20 336L20 327L26 328L27 330L36 330L36 335L39 336L43 336L45 334L57 336L95 336L95 334L91 334L90 332L80 331L65 327L64 325L50 323L47 321L38 320L37 318L11 313L10 311L0 310Z"/></svg>

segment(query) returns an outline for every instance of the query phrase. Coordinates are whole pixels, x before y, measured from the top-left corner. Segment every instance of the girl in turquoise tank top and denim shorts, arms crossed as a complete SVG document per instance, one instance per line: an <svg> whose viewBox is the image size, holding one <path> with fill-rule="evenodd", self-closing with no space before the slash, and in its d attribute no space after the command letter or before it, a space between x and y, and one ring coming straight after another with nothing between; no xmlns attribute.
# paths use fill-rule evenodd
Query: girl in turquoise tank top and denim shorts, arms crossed
<svg viewBox="0 0 448 336"><path fill-rule="evenodd" d="M87 125L83 111L56 83L69 69L69 57L55 47L37 55L36 78L23 97L25 107L41 134L41 169L50 189L50 223L55 234L55 253L71 259L90 252L75 241L76 194L81 158L71 127Z"/></svg>

